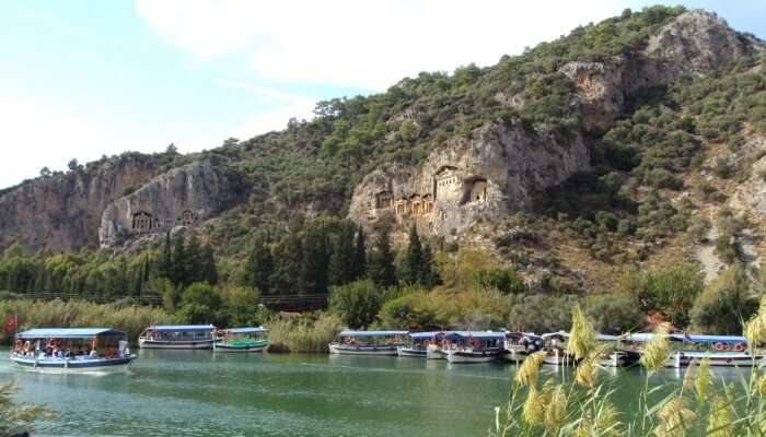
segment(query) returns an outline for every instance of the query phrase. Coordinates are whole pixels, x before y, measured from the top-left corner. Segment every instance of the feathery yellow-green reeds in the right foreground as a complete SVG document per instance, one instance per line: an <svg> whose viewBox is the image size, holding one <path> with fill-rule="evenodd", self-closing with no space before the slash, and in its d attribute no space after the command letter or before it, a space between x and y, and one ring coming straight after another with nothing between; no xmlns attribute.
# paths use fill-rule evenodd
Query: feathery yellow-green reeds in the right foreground
<svg viewBox="0 0 766 437"><path fill-rule="evenodd" d="M517 370L508 403L495 409L490 437L766 436L766 376L756 365L740 369L739 382L727 383L712 377L704 359L690 365L681 387L670 393L650 388L649 378L670 353L666 327L658 331L642 357L647 371L638 406L616 404L612 398L619 388L602 379L597 366L604 350L595 342L592 322L576 308L568 350L579 359L574 378L541 381L542 356L527 357ZM752 351L766 341L766 297L744 331Z"/></svg>

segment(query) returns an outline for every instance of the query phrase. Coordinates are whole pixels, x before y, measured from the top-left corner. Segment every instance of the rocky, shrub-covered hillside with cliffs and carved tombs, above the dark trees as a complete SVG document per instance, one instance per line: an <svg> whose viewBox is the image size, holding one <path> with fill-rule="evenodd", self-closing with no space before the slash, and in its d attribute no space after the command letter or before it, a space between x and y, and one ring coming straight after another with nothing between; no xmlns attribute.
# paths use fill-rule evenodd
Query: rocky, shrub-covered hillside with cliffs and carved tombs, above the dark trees
<svg viewBox="0 0 766 437"><path fill-rule="evenodd" d="M712 281L766 248L763 47L704 11L626 11L492 67L322 102L283 131L25 181L0 193L0 249L116 262L185 226L236 281L254 245L349 218L395 245L415 226L441 257L478 249L529 290L689 262Z"/></svg>

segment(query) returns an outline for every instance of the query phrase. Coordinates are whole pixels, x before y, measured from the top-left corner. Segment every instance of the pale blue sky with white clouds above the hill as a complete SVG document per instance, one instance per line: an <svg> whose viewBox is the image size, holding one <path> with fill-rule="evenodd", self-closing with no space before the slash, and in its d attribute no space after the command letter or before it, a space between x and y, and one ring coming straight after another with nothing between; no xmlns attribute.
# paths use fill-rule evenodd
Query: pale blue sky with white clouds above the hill
<svg viewBox="0 0 766 437"><path fill-rule="evenodd" d="M0 188L125 151L219 146L552 40L645 0L0 0ZM668 2L766 39L766 1Z"/></svg>

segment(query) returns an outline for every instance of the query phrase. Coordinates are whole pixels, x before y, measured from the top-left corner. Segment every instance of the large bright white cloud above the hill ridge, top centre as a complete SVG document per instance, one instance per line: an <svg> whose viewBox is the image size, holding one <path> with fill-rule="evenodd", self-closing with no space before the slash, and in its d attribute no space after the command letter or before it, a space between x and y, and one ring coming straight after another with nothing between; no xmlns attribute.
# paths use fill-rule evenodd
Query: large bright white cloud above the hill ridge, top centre
<svg viewBox="0 0 766 437"><path fill-rule="evenodd" d="M626 0L136 0L170 43L241 52L271 82L384 90L420 71L487 66L503 54L617 14Z"/></svg>

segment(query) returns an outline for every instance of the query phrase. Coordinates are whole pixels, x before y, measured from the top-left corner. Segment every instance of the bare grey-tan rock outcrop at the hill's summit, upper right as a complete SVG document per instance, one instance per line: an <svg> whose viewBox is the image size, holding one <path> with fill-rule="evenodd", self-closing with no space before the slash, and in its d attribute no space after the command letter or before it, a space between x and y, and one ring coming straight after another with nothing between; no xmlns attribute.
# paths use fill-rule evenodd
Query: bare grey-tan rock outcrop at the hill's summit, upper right
<svg viewBox="0 0 766 437"><path fill-rule="evenodd" d="M585 128L597 129L610 126L638 90L716 72L761 48L761 42L739 35L715 14L689 11L652 35L641 51L605 62L569 62L559 71L574 82Z"/></svg>

